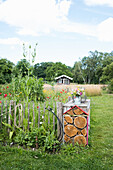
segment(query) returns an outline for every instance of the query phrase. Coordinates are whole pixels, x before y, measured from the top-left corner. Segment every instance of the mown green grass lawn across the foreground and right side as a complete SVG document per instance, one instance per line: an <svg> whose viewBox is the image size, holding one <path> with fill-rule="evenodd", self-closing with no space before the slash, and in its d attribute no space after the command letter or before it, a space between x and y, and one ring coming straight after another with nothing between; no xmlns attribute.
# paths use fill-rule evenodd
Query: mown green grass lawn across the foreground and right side
<svg viewBox="0 0 113 170"><path fill-rule="evenodd" d="M89 146L61 153L0 146L0 169L113 169L113 95L91 98Z"/></svg>

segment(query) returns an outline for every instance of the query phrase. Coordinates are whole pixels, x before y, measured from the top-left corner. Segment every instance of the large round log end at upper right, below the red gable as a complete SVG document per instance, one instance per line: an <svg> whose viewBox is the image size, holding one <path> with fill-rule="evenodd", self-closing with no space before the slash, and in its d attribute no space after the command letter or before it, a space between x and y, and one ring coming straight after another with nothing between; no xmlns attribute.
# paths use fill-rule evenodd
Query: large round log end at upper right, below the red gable
<svg viewBox="0 0 113 170"><path fill-rule="evenodd" d="M85 117L76 117L74 119L74 124L77 128L84 128L86 126L86 118Z"/></svg>

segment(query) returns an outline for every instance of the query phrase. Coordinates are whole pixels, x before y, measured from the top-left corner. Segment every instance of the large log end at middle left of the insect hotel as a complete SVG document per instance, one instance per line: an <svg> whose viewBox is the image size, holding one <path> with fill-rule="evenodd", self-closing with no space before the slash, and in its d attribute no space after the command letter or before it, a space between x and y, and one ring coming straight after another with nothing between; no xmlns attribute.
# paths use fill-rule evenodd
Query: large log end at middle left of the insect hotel
<svg viewBox="0 0 113 170"><path fill-rule="evenodd" d="M75 136L77 134L77 128L73 125L66 125L64 127L64 132L69 136Z"/></svg>

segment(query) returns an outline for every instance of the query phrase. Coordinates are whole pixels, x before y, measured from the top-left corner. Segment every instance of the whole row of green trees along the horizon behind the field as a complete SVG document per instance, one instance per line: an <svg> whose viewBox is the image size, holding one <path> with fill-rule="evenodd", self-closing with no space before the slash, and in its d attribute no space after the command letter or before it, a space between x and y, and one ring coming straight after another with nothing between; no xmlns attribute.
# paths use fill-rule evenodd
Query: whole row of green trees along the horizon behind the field
<svg viewBox="0 0 113 170"><path fill-rule="evenodd" d="M74 83L105 84L113 79L113 51L111 53L90 51L89 56L76 61L73 67L61 62L41 62L33 66L25 58L15 65L1 58L0 84L10 83L12 77L17 77L19 74L25 77L28 74L28 68L31 70L30 76L43 78L45 81L54 81L55 77L65 74L72 77Z"/></svg>

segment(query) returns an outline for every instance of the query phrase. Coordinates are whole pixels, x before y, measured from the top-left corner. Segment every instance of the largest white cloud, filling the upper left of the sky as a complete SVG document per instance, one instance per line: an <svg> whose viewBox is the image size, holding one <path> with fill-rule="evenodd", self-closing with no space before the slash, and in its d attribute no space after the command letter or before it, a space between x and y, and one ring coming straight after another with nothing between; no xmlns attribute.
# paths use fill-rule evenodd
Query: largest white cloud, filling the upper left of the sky
<svg viewBox="0 0 113 170"><path fill-rule="evenodd" d="M50 33L66 20L70 5L71 0L7 0L0 5L0 20L20 34Z"/></svg>

